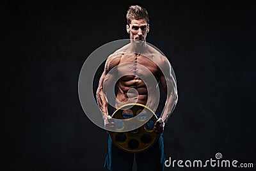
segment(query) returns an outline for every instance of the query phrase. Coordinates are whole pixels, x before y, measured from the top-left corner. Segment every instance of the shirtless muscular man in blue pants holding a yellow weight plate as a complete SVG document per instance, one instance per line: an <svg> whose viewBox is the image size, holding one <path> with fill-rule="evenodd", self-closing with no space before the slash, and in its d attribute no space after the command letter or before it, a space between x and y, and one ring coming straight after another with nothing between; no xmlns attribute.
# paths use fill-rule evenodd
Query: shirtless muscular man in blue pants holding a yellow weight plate
<svg viewBox="0 0 256 171"><path fill-rule="evenodd" d="M105 126L111 127L115 123L108 117L105 89L115 86L113 80L118 75L124 76L116 82L118 93L115 108L125 103L141 103L156 111L158 101L155 93L158 83L161 82L167 98L163 115L156 121L153 128L160 135L159 140L147 151L136 154L136 165L138 170L163 170L165 161L163 130L164 124L177 103L176 83L168 59L146 43L149 20L145 8L138 5L130 6L127 11L126 29L131 43L108 57L97 89L97 102L102 110ZM113 69L115 71L111 72ZM152 80L152 75L148 74L148 71L154 75L155 81ZM148 96L148 93L151 95ZM163 122L160 122L161 120ZM134 154L118 149L109 137L105 167L109 170L132 170L133 160Z"/></svg>

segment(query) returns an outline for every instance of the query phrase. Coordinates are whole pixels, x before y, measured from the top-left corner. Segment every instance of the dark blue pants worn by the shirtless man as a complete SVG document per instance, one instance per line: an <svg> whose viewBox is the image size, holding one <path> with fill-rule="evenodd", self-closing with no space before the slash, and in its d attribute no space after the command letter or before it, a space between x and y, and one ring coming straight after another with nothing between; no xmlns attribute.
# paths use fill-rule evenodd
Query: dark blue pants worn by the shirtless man
<svg viewBox="0 0 256 171"><path fill-rule="evenodd" d="M163 134L159 136L156 144L147 151L135 154L138 171L161 171L164 169L164 141ZM111 137L108 137L108 153L104 167L111 171L131 171L134 160L134 153L125 152L113 144Z"/></svg>

